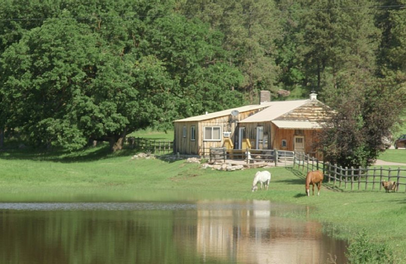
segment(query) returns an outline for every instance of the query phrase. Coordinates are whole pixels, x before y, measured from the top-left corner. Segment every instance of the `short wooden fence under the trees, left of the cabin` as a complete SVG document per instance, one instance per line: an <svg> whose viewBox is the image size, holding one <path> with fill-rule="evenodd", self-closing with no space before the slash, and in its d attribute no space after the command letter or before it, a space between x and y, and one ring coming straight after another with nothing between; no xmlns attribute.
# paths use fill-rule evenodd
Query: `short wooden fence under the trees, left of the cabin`
<svg viewBox="0 0 406 264"><path fill-rule="evenodd" d="M125 145L131 149L138 149L140 151L154 153L157 155L170 154L174 151L173 141L128 137L126 138Z"/></svg>

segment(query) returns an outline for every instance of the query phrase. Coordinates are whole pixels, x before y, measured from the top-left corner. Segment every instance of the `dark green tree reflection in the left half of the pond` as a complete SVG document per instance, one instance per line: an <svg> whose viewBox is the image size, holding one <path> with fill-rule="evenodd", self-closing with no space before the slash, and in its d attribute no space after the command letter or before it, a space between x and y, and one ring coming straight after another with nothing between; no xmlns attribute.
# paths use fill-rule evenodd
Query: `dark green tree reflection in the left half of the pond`
<svg viewBox="0 0 406 264"><path fill-rule="evenodd" d="M0 263L160 263L162 257L176 260L172 213L137 214L3 213Z"/></svg>

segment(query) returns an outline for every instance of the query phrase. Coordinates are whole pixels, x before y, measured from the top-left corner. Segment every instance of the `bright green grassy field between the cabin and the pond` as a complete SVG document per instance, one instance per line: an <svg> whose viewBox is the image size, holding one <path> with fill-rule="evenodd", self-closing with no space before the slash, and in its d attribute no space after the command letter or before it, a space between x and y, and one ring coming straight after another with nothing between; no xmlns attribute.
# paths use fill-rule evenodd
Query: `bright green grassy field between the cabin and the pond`
<svg viewBox="0 0 406 264"><path fill-rule="evenodd" d="M406 260L405 192L350 191L324 183L320 196L307 197L304 175L295 168L267 169L269 190L251 192L257 169L219 172L185 160L133 159L133 154L111 154L104 145L77 153L0 152L0 202L270 200L306 206L306 215L284 216L320 221L338 238L351 240L364 228L371 241L393 250L399 263ZM388 150L380 159L404 161L406 150Z"/></svg>

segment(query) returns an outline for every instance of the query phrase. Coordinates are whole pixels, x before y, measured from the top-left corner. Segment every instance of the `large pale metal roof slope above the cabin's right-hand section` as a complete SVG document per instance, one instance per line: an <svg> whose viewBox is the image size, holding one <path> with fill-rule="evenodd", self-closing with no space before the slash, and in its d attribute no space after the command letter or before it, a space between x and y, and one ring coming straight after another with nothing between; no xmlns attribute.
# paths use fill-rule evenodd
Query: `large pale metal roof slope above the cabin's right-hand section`
<svg viewBox="0 0 406 264"><path fill-rule="evenodd" d="M269 107L256 113L255 115L252 115L250 117L247 117L246 119L239 121L239 123L269 122L308 102L310 102L309 99L269 102L270 104Z"/></svg>

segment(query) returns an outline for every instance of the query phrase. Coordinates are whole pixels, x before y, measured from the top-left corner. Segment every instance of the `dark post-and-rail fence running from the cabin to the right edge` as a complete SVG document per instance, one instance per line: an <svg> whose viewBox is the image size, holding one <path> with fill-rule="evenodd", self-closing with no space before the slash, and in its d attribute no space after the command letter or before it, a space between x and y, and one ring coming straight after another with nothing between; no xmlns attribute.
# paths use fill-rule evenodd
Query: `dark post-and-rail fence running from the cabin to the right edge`
<svg viewBox="0 0 406 264"><path fill-rule="evenodd" d="M306 173L322 170L324 178L333 186L351 190L382 190L382 181L396 181L396 191L406 192L406 169L392 168L343 168L337 164L324 163L302 153L295 153L295 166Z"/></svg>

